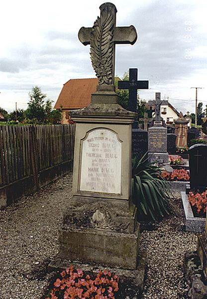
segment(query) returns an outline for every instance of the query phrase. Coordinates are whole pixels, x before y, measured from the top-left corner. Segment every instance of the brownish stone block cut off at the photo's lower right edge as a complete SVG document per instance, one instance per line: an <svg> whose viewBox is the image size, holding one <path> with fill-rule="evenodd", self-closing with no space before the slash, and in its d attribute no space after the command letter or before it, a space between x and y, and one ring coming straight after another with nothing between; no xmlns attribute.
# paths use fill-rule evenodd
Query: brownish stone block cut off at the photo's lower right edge
<svg viewBox="0 0 207 299"><path fill-rule="evenodd" d="M207 234L203 233L198 236L197 252L201 260L204 275L207 278Z"/></svg>

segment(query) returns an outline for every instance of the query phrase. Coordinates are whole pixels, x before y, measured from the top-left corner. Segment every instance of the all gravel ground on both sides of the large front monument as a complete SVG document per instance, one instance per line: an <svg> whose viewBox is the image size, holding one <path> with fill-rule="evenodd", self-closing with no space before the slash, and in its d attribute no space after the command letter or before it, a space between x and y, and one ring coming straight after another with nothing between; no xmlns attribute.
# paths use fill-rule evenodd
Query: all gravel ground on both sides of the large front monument
<svg viewBox="0 0 207 299"><path fill-rule="evenodd" d="M0 211L0 299L40 299L51 274L46 266L58 252L58 228L70 206L72 175ZM197 237L184 232L179 193L175 213L155 231L143 231L147 253L144 299L184 299L183 257Z"/></svg>

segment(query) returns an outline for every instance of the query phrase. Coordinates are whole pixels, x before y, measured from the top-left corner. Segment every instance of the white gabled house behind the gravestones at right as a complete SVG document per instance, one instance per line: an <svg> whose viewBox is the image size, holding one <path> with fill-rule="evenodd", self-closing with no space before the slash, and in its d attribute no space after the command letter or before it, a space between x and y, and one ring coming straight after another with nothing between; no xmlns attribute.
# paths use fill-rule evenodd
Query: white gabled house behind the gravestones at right
<svg viewBox="0 0 207 299"><path fill-rule="evenodd" d="M180 113L171 105L168 100L161 101L160 107L160 116L163 118L167 125L172 125L174 123L174 119L177 119ZM155 100L149 101L147 103L148 111L153 111L155 109ZM152 112L152 117L154 116L154 112Z"/></svg>

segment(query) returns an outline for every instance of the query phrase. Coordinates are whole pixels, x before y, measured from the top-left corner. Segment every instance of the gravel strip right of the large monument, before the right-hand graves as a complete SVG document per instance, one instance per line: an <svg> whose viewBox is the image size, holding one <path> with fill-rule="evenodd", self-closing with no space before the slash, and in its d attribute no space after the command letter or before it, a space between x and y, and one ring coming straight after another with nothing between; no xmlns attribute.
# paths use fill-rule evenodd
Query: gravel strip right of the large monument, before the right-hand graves
<svg viewBox="0 0 207 299"><path fill-rule="evenodd" d="M195 250L197 234L184 231L180 192L171 199L174 213L155 231L143 231L141 249L147 253L147 280L143 299L186 299L183 261L187 250Z"/></svg>

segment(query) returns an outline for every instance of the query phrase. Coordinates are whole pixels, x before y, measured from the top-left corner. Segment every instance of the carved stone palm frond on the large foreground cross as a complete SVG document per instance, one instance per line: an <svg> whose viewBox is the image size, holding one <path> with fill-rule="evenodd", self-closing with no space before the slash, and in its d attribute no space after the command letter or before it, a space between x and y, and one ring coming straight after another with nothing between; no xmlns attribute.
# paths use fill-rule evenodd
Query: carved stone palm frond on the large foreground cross
<svg viewBox="0 0 207 299"><path fill-rule="evenodd" d="M113 15L107 6L98 16L91 33L91 60L99 85L112 84L113 69Z"/></svg>

